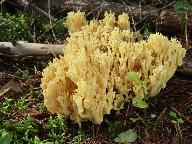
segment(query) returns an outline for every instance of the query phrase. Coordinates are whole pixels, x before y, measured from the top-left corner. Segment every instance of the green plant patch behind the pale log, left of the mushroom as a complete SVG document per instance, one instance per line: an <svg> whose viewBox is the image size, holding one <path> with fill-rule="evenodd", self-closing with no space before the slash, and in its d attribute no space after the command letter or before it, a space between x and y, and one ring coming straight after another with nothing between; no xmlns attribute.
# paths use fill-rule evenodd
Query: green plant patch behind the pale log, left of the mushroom
<svg viewBox="0 0 192 144"><path fill-rule="evenodd" d="M62 42L66 38L67 30L63 26L63 16L56 23L35 11L17 11L12 13L4 10L0 12L0 21L6 25L0 29L0 40L25 40L36 42L39 40L56 40ZM54 33L54 34L53 34Z"/></svg>

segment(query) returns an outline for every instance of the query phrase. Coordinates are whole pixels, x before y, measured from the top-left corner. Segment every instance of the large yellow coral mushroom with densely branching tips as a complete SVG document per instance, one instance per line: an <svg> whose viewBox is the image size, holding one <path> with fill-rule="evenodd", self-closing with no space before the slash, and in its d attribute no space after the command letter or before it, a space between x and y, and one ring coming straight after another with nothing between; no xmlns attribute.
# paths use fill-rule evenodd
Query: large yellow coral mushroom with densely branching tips
<svg viewBox="0 0 192 144"><path fill-rule="evenodd" d="M116 21L114 13L105 13L103 20L87 23L84 13L68 14L64 56L43 71L41 88L50 112L100 124L112 109L122 109L132 92L143 97L140 85L126 79L132 71L140 75L149 97L165 88L185 49L159 33L138 41L128 19L122 14Z"/></svg>

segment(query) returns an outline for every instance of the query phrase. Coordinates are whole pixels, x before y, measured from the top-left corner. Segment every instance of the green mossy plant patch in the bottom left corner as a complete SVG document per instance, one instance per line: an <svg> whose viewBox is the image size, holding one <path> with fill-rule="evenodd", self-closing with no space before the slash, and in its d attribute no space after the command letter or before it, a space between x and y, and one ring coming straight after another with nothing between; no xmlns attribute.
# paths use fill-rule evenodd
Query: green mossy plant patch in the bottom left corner
<svg viewBox="0 0 192 144"><path fill-rule="evenodd" d="M38 127L30 115L28 115L25 120L16 124L13 124L11 120L5 120L3 124L0 125L0 144L4 144L2 140L8 141L10 136L12 142L15 144L59 144L58 141L51 142L49 139L41 140L37 136L38 132Z"/></svg>

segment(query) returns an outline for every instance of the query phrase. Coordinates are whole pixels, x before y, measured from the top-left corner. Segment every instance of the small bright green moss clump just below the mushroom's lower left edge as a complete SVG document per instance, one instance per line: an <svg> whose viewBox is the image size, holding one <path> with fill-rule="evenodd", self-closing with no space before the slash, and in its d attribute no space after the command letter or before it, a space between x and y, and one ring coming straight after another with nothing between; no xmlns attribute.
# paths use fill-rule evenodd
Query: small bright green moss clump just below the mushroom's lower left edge
<svg viewBox="0 0 192 144"><path fill-rule="evenodd" d="M44 125L44 129L48 131L48 135L53 141L60 141L65 138L67 122L65 119L53 119L53 117L50 116L49 121Z"/></svg>

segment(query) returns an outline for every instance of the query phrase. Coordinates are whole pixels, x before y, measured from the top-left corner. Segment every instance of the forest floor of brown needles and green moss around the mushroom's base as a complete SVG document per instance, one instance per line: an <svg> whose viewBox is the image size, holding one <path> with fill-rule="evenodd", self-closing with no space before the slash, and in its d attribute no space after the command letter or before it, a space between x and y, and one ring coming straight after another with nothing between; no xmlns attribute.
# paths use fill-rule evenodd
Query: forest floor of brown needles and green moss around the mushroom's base
<svg viewBox="0 0 192 144"><path fill-rule="evenodd" d="M148 100L146 111L127 103L119 112L106 115L101 125L83 122L80 129L44 106L41 73L53 58L0 55L0 143L112 144L118 134L129 129L137 134L135 143L192 143L191 76L176 72L166 88Z"/></svg>

